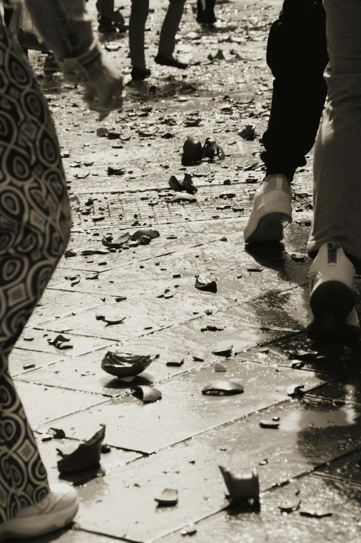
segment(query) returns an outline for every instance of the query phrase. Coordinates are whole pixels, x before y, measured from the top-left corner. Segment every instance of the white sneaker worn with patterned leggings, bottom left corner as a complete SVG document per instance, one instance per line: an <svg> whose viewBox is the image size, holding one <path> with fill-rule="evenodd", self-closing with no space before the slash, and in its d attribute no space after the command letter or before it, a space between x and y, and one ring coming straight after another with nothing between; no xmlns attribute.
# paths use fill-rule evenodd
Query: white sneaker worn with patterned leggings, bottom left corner
<svg viewBox="0 0 361 543"><path fill-rule="evenodd" d="M51 485L50 493L39 504L22 509L15 519L0 524L0 541L55 532L70 524L77 511L76 490L63 483Z"/></svg>

